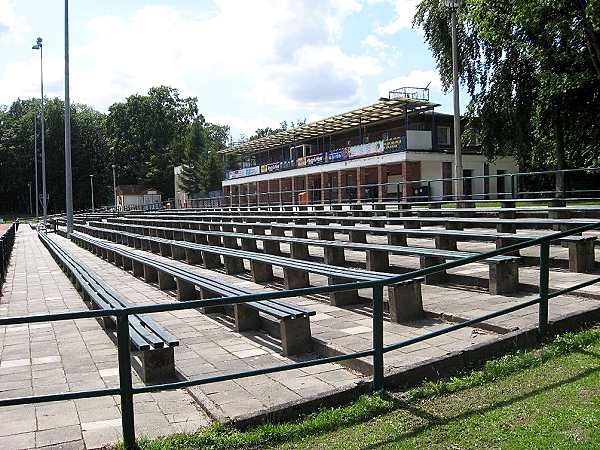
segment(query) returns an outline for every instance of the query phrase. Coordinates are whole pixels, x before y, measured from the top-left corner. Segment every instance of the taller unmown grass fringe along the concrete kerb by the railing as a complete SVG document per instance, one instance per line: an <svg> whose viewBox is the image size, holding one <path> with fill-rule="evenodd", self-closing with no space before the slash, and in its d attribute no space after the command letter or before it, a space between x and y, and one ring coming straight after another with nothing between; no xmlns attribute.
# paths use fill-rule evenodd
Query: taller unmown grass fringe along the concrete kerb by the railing
<svg viewBox="0 0 600 450"><path fill-rule="evenodd" d="M519 351L485 363L481 370L452 377L448 380L425 382L396 398L385 393L364 395L353 403L335 408L324 408L298 421L265 423L247 431L238 431L219 423L206 430L189 434L174 434L159 439L139 439L141 449L248 449L317 435L338 428L365 422L389 413L407 403L441 397L465 389L494 383L569 353L577 352L600 342L600 327L578 333L565 333L545 346L531 351ZM118 448L123 448L118 445Z"/></svg>

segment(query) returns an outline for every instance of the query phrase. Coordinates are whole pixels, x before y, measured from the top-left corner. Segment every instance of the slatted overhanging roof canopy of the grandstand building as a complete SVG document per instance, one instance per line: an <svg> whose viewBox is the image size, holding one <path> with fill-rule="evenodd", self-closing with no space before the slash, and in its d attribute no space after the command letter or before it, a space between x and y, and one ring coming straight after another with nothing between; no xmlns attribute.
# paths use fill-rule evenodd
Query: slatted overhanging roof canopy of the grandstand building
<svg viewBox="0 0 600 450"><path fill-rule="evenodd" d="M427 111L440 106L428 100L414 98L382 98L379 102L348 111L316 122L300 125L279 133L227 147L220 153L256 153L283 145L301 143L306 140L340 133L358 126L368 126L382 120L393 119L405 114Z"/></svg>

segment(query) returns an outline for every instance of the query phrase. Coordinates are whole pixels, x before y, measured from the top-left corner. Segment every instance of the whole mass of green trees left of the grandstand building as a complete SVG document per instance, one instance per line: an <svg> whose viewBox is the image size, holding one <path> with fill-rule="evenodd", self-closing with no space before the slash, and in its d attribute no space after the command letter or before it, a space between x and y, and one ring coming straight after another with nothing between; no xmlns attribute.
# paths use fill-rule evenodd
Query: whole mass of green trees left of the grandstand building
<svg viewBox="0 0 600 450"><path fill-rule="evenodd" d="M34 116L36 99L0 106L0 211L26 213L29 188L35 201ZM48 212L64 211L64 104L46 99L46 186ZM38 126L38 132L40 127ZM94 175L96 206L113 202L112 164L118 184L142 183L173 196L174 167L187 163L191 192L220 188L223 164L218 151L229 137L229 127L207 123L197 100L182 98L177 89L160 86L147 95L132 95L115 103L108 114L87 105L71 106L71 161L75 210L90 208L89 175ZM41 152L40 139L38 150ZM41 195L41 158L38 157ZM35 204L34 204L35 212ZM41 213L41 206L40 206Z"/></svg>

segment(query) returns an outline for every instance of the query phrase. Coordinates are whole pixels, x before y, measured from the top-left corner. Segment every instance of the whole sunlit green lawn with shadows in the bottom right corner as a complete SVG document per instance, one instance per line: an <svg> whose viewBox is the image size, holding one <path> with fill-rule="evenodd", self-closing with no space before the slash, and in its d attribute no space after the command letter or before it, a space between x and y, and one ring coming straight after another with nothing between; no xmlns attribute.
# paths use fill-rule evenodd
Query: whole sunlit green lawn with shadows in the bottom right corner
<svg viewBox="0 0 600 450"><path fill-rule="evenodd" d="M462 377L363 396L295 422L220 424L142 449L599 448L600 327L489 361Z"/></svg>

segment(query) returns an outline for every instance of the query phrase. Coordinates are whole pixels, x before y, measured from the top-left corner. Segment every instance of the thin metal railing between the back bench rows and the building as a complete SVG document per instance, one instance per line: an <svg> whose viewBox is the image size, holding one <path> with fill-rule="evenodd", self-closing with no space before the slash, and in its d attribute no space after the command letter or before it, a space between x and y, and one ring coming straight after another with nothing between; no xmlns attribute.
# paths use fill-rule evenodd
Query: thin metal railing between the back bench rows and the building
<svg viewBox="0 0 600 450"><path fill-rule="evenodd" d="M243 192L227 194L221 197L193 199L189 206L192 208L221 207L221 206L269 206L269 205L299 205L303 204L298 194L305 192L307 204L352 203L352 202L456 202L458 200L503 200L503 199L528 199L542 196L551 197L581 197L584 195L600 197L600 189L595 186L588 189L581 186L580 180L569 175L597 174L600 167L581 169L547 170L537 172L518 172L495 175L475 175L458 178L433 178L427 180L399 181L388 183L368 183L360 187L350 186L324 186L317 188L303 188L291 190L267 190L266 192ZM562 179L562 184L557 183ZM463 188L471 186L470 194L463 194L457 198L452 193L453 182L462 181ZM498 180L502 180L502 183ZM492 192L490 183L494 182ZM255 189L257 182L251 183ZM264 183L260 182L260 183ZM474 184L483 185L475 189ZM594 181L590 180L589 184ZM486 188L487 184L487 188ZM504 187L502 187L504 185ZM556 189L560 185L561 189ZM240 189L242 185L235 185ZM538 189L536 189L536 187ZM231 187L230 187L231 189ZM246 189L246 187L244 187ZM463 189L468 192L469 189Z"/></svg>

